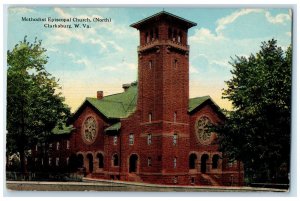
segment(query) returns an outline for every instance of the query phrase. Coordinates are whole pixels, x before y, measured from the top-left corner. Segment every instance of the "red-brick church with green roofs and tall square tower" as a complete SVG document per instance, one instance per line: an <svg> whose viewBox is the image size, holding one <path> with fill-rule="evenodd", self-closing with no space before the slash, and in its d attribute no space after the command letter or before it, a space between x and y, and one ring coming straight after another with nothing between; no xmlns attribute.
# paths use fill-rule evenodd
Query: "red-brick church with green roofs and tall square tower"
<svg viewBox="0 0 300 201"><path fill-rule="evenodd" d="M224 114L209 96L189 99L187 37L194 26L165 11L132 24L140 34L137 82L86 98L69 127L54 129L45 158L36 146L35 161L67 166L73 154L91 178L242 185L242 164L224 158L217 134L207 129Z"/></svg>

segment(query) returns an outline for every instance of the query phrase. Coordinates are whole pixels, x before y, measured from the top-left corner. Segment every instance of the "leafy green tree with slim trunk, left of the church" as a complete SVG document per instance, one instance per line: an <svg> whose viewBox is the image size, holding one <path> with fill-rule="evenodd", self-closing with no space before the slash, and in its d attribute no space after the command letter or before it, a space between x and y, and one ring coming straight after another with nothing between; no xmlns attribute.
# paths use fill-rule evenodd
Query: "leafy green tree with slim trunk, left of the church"
<svg viewBox="0 0 300 201"><path fill-rule="evenodd" d="M26 36L7 52L7 154L20 154L22 171L28 150L70 114L58 80L45 69L45 52L41 41L29 43Z"/></svg>

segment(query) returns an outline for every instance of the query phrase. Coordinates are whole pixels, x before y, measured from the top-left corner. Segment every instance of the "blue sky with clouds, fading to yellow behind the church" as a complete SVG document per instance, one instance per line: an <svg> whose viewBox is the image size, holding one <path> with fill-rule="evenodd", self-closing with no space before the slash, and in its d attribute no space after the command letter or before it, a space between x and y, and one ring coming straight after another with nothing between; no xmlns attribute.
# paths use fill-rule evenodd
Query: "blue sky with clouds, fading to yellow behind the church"
<svg viewBox="0 0 300 201"><path fill-rule="evenodd" d="M59 79L66 104L75 111L86 97L122 92L122 84L137 80L138 31L129 25L162 10L197 23L189 30L190 98L210 95L221 108L232 109L222 99L225 81L232 74L231 58L249 56L262 41L272 38L284 50L291 44L292 12L289 9L245 8L88 8L10 7L7 49L27 35L35 37L49 56L46 69ZM39 22L22 17L59 19L105 19L110 22ZM68 28L46 28L44 24L71 24ZM81 24L75 28L74 24ZM84 28L87 24L90 28Z"/></svg>

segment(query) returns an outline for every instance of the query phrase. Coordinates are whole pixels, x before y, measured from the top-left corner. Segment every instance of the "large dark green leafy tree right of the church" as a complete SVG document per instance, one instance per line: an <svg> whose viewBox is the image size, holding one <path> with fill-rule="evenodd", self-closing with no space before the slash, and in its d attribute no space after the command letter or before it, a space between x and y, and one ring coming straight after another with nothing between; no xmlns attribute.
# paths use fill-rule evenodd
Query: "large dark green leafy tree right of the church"
<svg viewBox="0 0 300 201"><path fill-rule="evenodd" d="M292 47L284 52L272 39L249 58L230 63L233 77L223 98L233 111L216 128L220 149L244 163L252 182L288 182L291 140Z"/></svg>

